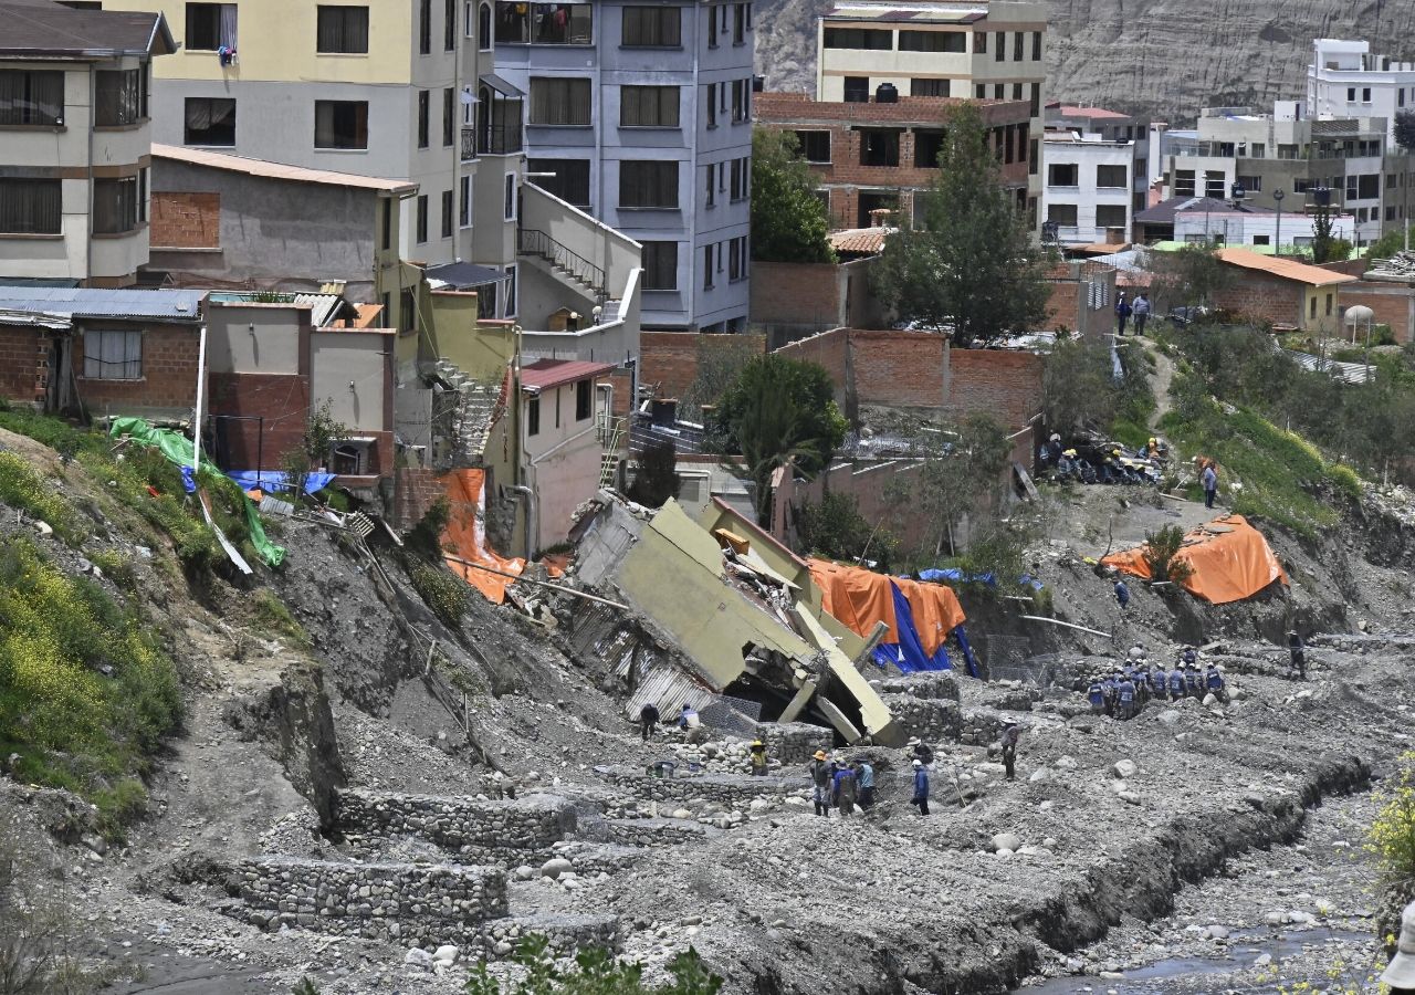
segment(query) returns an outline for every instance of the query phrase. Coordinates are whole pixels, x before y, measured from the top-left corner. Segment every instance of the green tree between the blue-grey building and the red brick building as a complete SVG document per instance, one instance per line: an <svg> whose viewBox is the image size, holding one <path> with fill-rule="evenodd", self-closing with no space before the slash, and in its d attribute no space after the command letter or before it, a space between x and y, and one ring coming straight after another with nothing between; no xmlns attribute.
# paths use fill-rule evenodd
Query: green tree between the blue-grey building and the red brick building
<svg viewBox="0 0 1415 995"><path fill-rule="evenodd" d="M791 132L751 136L751 258L774 263L835 262L815 174Z"/></svg>

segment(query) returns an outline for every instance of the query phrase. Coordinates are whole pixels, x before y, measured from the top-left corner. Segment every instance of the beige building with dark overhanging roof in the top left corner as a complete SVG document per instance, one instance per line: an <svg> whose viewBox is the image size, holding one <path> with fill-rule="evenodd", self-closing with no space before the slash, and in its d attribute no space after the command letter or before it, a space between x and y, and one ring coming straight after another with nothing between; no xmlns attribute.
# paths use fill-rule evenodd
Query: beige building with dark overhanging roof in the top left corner
<svg viewBox="0 0 1415 995"><path fill-rule="evenodd" d="M166 20L6 0L0 23L0 277L136 282Z"/></svg>

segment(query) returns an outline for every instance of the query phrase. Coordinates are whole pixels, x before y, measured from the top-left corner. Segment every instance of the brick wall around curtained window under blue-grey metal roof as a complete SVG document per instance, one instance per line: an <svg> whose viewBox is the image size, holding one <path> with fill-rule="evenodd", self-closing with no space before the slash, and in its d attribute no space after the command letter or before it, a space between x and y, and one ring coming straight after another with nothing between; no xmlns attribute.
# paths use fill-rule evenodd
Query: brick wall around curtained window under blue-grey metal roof
<svg viewBox="0 0 1415 995"><path fill-rule="evenodd" d="M79 376L78 393L93 415L166 412L178 415L197 405L197 352L200 334L195 326L134 326L105 321L88 323L95 331L142 328L143 375L140 379L88 379L83 376L83 335L74 335L74 369Z"/></svg>

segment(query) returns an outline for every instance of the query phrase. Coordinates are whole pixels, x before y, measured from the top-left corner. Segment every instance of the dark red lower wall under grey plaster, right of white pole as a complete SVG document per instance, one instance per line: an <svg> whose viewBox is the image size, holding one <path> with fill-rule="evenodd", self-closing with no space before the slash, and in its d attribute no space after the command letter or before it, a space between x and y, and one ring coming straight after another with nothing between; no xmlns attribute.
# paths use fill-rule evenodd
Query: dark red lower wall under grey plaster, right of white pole
<svg viewBox="0 0 1415 995"><path fill-rule="evenodd" d="M310 409L308 378L214 372L207 382L216 459L232 470L279 470L282 457L303 442Z"/></svg>

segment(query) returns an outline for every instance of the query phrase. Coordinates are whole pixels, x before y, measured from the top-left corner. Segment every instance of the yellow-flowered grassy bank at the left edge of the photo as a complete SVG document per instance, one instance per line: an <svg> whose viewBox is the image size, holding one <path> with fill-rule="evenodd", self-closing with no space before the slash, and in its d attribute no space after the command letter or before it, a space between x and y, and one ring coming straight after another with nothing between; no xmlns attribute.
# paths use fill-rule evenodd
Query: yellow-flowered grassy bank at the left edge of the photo
<svg viewBox="0 0 1415 995"><path fill-rule="evenodd" d="M116 839L180 720L177 671L133 611L27 539L0 549L0 750L18 778L88 798Z"/></svg>

